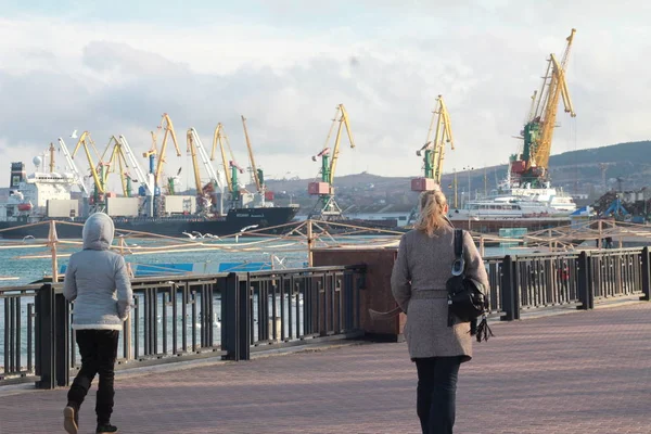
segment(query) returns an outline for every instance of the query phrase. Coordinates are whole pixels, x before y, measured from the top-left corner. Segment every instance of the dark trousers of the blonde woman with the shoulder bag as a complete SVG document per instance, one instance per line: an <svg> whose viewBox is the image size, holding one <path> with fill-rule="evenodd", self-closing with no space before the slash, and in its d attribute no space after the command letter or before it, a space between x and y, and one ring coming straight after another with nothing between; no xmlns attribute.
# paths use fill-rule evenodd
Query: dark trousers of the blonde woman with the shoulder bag
<svg viewBox="0 0 651 434"><path fill-rule="evenodd" d="M417 413L423 434L452 434L461 357L417 358Z"/></svg>

